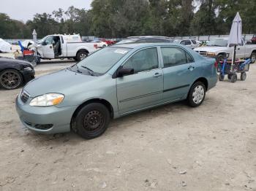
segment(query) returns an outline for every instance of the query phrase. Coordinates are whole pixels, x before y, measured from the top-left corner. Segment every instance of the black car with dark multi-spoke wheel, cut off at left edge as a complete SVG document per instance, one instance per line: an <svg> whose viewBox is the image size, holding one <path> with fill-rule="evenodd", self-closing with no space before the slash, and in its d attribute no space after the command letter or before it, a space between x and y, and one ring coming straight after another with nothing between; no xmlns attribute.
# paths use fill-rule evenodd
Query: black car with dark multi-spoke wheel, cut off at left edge
<svg viewBox="0 0 256 191"><path fill-rule="evenodd" d="M0 87L13 90L34 79L34 66L27 61L0 57Z"/></svg>

